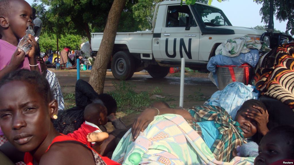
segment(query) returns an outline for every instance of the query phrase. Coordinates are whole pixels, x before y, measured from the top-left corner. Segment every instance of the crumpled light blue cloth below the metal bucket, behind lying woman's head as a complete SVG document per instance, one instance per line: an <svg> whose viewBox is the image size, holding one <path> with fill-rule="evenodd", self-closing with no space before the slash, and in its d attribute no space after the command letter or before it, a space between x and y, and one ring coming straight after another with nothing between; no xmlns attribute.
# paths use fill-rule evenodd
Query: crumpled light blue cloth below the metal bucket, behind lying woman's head
<svg viewBox="0 0 294 165"><path fill-rule="evenodd" d="M233 82L228 84L223 90L213 93L207 104L224 108L235 119L236 113L243 102L250 99L258 99L258 94L258 91L252 85Z"/></svg>

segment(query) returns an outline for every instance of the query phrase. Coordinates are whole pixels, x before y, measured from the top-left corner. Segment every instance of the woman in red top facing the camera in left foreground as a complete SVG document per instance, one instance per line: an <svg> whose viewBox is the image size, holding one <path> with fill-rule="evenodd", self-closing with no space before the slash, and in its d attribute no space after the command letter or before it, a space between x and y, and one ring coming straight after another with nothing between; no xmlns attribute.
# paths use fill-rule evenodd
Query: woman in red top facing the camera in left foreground
<svg viewBox="0 0 294 165"><path fill-rule="evenodd" d="M58 105L47 80L36 71L16 70L0 81L0 125L28 164L117 164L81 141L55 130Z"/></svg>

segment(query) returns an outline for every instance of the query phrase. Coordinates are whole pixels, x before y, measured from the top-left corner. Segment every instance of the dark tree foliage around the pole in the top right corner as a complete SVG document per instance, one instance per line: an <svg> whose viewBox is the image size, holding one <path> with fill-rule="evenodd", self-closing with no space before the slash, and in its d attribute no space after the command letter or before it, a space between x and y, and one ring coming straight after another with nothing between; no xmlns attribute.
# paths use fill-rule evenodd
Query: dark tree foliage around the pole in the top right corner
<svg viewBox="0 0 294 165"><path fill-rule="evenodd" d="M259 14L261 21L268 24L270 17L270 0L255 0L257 4L262 4ZM294 35L294 1L293 0L274 0L274 15L279 21L287 21L286 33Z"/></svg>

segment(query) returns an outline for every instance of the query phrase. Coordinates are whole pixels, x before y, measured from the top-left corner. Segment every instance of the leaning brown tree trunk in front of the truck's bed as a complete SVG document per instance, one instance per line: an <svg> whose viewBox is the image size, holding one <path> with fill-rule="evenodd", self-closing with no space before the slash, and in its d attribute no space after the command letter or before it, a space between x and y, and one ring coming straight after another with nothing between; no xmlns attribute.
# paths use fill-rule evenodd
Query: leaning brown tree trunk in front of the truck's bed
<svg viewBox="0 0 294 165"><path fill-rule="evenodd" d="M103 93L106 69L112 55L121 12L125 5L126 0L114 0L107 17L102 41L89 80L89 83L98 94Z"/></svg>

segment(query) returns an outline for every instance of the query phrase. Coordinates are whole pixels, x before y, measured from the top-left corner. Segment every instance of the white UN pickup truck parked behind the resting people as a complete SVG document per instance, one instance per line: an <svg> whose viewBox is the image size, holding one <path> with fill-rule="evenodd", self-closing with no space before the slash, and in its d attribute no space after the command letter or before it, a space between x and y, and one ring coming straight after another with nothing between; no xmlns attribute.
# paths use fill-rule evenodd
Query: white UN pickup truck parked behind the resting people
<svg viewBox="0 0 294 165"><path fill-rule="evenodd" d="M130 79L143 69L154 78L163 78L170 67L181 65L182 57L186 67L206 69L222 42L243 36L259 40L264 32L232 26L222 10L207 4L181 6L180 1L164 1L155 8L151 31L117 33L108 68L120 80ZM92 33L94 53L102 36L103 33Z"/></svg>

